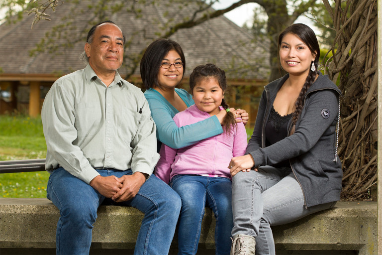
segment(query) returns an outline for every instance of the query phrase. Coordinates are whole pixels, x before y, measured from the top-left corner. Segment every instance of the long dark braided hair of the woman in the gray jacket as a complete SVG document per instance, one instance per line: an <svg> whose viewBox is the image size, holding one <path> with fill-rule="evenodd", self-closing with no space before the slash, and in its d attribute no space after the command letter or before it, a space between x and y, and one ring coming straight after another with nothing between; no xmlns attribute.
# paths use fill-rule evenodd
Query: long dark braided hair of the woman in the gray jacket
<svg viewBox="0 0 382 255"><path fill-rule="evenodd" d="M303 104L304 104L304 97L305 97L306 91L309 89L309 87L313 84L314 80L316 79L318 61L320 59L320 46L318 45L317 37L314 31L309 26L305 24L301 24L301 23L296 23L286 27L286 29L284 29L284 31L281 32L281 34L279 35L279 50L280 50L283 37L288 33L296 35L298 38L300 38L301 41L303 41L308 46L309 50L313 54L316 54L313 61L316 70L312 71L309 67L309 74L306 77L304 86L302 87L300 94L298 95L298 98L296 99L296 102L295 102L295 110L292 114L293 128L291 129L291 132L290 132L290 133L293 133L295 128L294 125L296 124L301 114L302 107L304 106Z"/></svg>

